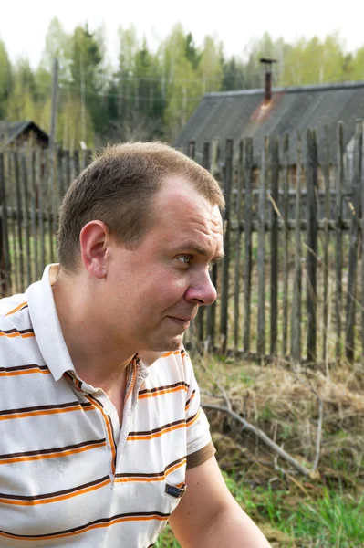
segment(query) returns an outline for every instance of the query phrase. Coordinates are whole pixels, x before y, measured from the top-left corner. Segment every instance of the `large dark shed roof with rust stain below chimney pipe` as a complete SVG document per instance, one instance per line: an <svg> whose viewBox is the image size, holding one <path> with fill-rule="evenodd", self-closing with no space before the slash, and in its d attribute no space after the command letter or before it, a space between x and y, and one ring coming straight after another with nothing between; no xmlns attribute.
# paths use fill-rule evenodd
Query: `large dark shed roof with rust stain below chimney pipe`
<svg viewBox="0 0 364 548"><path fill-rule="evenodd" d="M266 105L264 90L207 93L173 143L185 147L195 141L196 160L201 162L203 142L254 137L255 157L260 155L265 135L291 134L290 147L296 151L297 132L303 138L307 129L317 131L318 152L324 152L325 126L328 126L330 159L335 160L338 121L344 122L345 147L352 139L355 122L364 119L364 81L276 88ZM223 152L224 153L224 152ZM294 158L295 156L295 158ZM296 154L292 154L296 162Z"/></svg>

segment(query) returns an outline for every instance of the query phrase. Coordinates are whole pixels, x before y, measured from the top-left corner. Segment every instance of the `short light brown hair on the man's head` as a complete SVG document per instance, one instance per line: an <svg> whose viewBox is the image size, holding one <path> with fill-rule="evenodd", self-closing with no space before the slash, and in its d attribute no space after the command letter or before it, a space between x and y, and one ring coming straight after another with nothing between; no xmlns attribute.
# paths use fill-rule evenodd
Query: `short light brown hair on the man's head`
<svg viewBox="0 0 364 548"><path fill-rule="evenodd" d="M58 260L79 264L79 233L103 221L120 243L135 248L151 226L151 201L168 176L182 176L212 205L224 208L219 184L206 169L162 142L127 142L107 147L64 197L58 227Z"/></svg>

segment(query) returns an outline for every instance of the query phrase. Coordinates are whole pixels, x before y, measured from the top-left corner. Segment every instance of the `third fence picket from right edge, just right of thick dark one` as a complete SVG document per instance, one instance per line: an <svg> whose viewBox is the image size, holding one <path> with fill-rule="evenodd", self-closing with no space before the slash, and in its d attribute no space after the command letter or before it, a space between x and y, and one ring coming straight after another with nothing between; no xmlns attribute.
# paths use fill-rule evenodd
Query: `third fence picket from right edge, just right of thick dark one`
<svg viewBox="0 0 364 548"><path fill-rule="evenodd" d="M324 228L324 309L323 309L323 339L322 339L322 359L324 362L328 359L328 272L329 272L329 258L328 258L328 245L329 245L329 230L328 219L330 217L330 142L328 137L328 126L325 127L325 163L324 163L324 182L325 182L325 228Z"/></svg>

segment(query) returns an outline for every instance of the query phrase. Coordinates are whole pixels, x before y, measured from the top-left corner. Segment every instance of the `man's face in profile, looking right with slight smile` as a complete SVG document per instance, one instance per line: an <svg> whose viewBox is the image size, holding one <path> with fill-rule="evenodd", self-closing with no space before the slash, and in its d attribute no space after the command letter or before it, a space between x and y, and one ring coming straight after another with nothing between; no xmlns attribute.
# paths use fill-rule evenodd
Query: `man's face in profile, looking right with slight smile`
<svg viewBox="0 0 364 548"><path fill-rule="evenodd" d="M209 269L223 256L218 207L184 179L167 179L151 207L153 224L136 249L112 240L109 248L111 331L132 352L180 347L199 306L216 299Z"/></svg>

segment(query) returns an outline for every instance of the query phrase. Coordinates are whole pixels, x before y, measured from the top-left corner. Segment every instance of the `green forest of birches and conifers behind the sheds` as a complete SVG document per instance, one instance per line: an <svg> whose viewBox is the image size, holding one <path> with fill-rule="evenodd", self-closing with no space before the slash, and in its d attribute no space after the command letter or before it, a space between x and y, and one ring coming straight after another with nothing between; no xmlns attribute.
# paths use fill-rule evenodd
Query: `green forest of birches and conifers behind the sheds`
<svg viewBox="0 0 364 548"><path fill-rule="evenodd" d="M112 64L102 27L67 33L55 17L32 68L27 58L12 62L0 37L0 120L33 120L49 132L55 58L56 141L69 150L80 142L92 149L135 139L172 142L205 93L263 87L261 57L277 61L275 87L364 79L364 45L348 52L338 33L287 43L265 32L246 44L243 37L242 52L230 57L216 37L196 44L181 24L158 44L152 38L120 26Z"/></svg>

